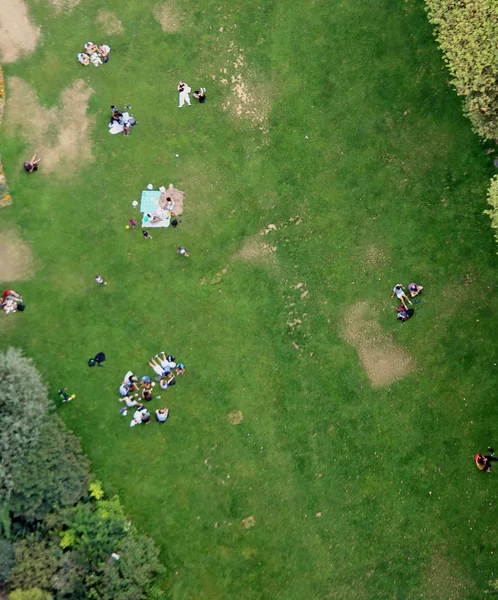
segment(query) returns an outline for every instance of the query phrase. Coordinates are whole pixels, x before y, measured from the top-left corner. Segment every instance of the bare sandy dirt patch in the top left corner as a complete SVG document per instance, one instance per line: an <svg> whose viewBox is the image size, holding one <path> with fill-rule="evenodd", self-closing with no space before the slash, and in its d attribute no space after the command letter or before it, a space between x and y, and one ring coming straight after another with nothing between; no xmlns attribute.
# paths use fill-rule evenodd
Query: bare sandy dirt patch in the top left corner
<svg viewBox="0 0 498 600"><path fill-rule="evenodd" d="M12 63L33 52L41 31L33 25L23 0L0 2L0 62Z"/></svg>

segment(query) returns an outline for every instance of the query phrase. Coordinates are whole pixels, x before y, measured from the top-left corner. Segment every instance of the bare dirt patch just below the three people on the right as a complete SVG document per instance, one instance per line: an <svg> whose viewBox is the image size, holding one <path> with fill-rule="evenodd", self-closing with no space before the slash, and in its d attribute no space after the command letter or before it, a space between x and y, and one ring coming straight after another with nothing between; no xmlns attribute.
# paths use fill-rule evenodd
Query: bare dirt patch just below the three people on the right
<svg viewBox="0 0 498 600"><path fill-rule="evenodd" d="M366 302L358 302L346 315L344 337L356 349L373 386L394 383L412 368L407 351L382 331Z"/></svg>

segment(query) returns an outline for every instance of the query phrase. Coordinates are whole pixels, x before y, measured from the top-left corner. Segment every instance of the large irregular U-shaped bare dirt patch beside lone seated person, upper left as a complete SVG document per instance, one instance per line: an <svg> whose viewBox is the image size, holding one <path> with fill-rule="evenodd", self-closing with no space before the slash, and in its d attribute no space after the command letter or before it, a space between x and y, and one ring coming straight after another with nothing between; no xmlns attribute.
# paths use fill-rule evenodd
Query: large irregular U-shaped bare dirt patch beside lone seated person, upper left
<svg viewBox="0 0 498 600"><path fill-rule="evenodd" d="M40 106L33 88L18 77L10 77L5 127L12 135L20 131L29 143L27 153L42 158L40 171L70 176L82 162L93 160L87 115L92 88L78 80L61 95L61 105Z"/></svg>

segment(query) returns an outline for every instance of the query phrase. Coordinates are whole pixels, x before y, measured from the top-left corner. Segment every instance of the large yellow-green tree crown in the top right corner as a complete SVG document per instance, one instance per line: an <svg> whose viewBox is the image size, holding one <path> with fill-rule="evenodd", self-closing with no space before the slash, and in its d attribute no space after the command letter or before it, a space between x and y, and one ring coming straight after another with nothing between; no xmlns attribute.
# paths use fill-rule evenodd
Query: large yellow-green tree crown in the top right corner
<svg viewBox="0 0 498 600"><path fill-rule="evenodd" d="M484 138L498 137L498 3L425 1L451 82L465 99L474 130Z"/></svg>

